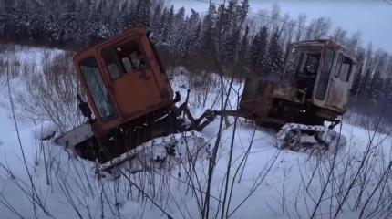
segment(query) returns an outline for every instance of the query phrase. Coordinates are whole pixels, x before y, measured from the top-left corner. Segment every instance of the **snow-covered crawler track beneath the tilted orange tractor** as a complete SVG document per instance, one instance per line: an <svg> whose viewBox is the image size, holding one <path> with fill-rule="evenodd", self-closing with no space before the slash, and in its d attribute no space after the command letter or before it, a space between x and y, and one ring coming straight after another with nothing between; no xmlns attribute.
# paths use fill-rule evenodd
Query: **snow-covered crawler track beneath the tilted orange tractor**
<svg viewBox="0 0 392 219"><path fill-rule="evenodd" d="M97 162L97 173L118 175L123 169L127 172L142 172L155 168L170 168L170 165L175 163L197 159L206 151L206 144L200 132L171 134L140 144L108 162ZM168 166L164 165L165 163L171 164Z"/></svg>

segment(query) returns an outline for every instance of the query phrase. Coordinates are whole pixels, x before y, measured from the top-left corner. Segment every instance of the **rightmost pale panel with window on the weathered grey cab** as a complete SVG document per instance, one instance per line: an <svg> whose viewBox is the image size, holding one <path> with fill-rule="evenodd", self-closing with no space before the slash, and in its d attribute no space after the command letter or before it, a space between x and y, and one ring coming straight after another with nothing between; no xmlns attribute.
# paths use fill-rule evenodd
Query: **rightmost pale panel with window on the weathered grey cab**
<svg viewBox="0 0 392 219"><path fill-rule="evenodd" d="M353 61L339 52L327 95L326 106L328 108L339 111L346 110L353 78L352 72Z"/></svg>

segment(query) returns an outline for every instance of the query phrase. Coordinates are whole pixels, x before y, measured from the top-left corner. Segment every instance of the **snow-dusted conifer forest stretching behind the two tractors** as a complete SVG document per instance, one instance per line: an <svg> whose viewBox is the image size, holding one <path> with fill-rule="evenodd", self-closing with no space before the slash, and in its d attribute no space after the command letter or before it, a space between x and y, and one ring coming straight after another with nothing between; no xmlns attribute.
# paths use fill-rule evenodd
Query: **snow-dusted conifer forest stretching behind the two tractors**
<svg viewBox="0 0 392 219"><path fill-rule="evenodd" d="M360 33L332 30L329 18L292 18L279 5L250 13L248 0L228 0L209 5L203 14L159 0L0 0L0 6L5 42L80 48L142 24L153 31L165 63L197 70L224 67L239 77L279 74L292 42L331 38L357 56L354 102L379 106L392 100L390 54L363 47Z"/></svg>

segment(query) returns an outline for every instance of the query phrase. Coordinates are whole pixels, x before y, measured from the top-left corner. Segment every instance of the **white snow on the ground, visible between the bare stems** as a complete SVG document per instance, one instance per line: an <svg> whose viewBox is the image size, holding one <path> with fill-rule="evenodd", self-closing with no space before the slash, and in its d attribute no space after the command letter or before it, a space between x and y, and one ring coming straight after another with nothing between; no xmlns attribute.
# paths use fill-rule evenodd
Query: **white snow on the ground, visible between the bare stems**
<svg viewBox="0 0 392 219"><path fill-rule="evenodd" d="M29 57L37 57L38 59L35 61L39 63L39 57L43 57L42 53L44 52L44 50L36 48L21 49L17 52L17 56L23 57L23 61L26 62L31 61ZM191 89L189 105L194 115L201 115L206 109L220 109L220 88L216 86L219 78L212 77L209 80L202 77L191 78L183 68L177 68L170 74L173 78L173 89L181 91L182 100L185 99L186 89ZM211 86L205 89L194 89L192 86L192 84L206 85L208 83L211 83ZM185 171L190 168L191 162L176 162L170 168L150 167L149 171L137 174L125 172L120 175L119 179L102 179L95 174L94 162L74 158L63 148L54 146L50 141L39 141L54 130L53 124L50 122L34 124L28 120L16 120L21 138L20 145L9 106L8 92L4 83L0 84L2 84L0 86L1 92L5 94L0 97L4 106L0 107L0 201L3 202L3 204L0 202L0 212L2 218L20 218L5 207L5 201L23 217L35 217L31 199L28 198L28 195L26 196L26 193L31 194L32 190L26 167L32 175L32 181L35 184L38 197L42 201L42 206L48 212L45 214L43 207L36 204L37 218L52 218L52 216L55 218L77 218L78 214L83 218L98 218L102 214L105 218L117 217L119 214L123 218L167 218L159 208L150 203L146 195L140 195L134 186L131 189L132 193L127 193L129 182L139 185L146 193L153 193L156 197L154 200L174 218L187 218L190 215L193 218L200 217L195 196L201 194L191 192L191 182L187 181L187 172ZM228 88L229 81L226 80L225 84ZM23 90L23 86L24 82L15 78L11 89ZM241 93L241 91L242 84L235 81L231 91L232 98L229 108L235 109L236 93ZM286 218L287 214L290 214L292 218L297 218L297 213L294 211L295 202L299 206L298 214L304 218L309 217L308 211L310 210L306 209L306 205L313 203L311 203L309 196L305 195L306 199L298 191L302 188L303 180L311 175L314 167L318 163L322 163L325 165L325 169L320 169L319 172L324 172L328 168L330 159L328 157L310 157L307 154L294 151L278 150L275 147L275 130L256 127L242 119L238 120L233 135L234 119L229 118L229 121L231 125L226 126L225 124L222 130L221 147L218 151L217 165L211 182L211 195L213 197L222 196L221 189L224 186L230 146L234 136L232 156L232 170L234 171L231 173L231 179L244 155L249 154L249 156L246 165L239 169L238 177L233 183L234 189L229 213L244 199L246 201L232 214L232 218ZM214 145L219 123L220 119L217 118L201 132L209 153ZM335 129L339 130L340 127ZM339 163L339 168L344 166L345 159L350 157L352 158L350 162L353 162L351 169L355 169L362 154L366 151L366 146L372 139L373 132L347 123L343 123L341 131L346 137L347 145L339 152L338 157L342 161ZM375 133L374 139L374 142L379 143L380 150L383 152L375 153L375 156L380 156L380 159L377 159L377 165L381 165L382 159L389 159L387 157L388 147L390 148L392 139L381 133ZM252 140L254 140L252 147L246 152ZM21 149L26 156L26 166ZM205 156L201 156L194 163L195 172L200 177L199 180L205 180L209 160ZM11 172L7 172L7 170ZM128 176L129 180L126 180L125 176ZM238 183L239 178L241 178L240 183ZM317 194L320 193L321 182L323 180L320 176L320 179L316 178L315 182L309 183L308 191L315 197L318 197ZM259 186L254 188L253 185L257 184ZM201 182L201 186L203 185L204 183ZM247 198L249 193L253 194ZM323 213L328 213L329 206L329 203L324 202L320 208ZM349 211L347 206L345 207L345 211L340 214L339 218L358 217L357 211ZM211 212L215 213L217 210L218 202L212 198ZM219 210L219 212L221 211Z"/></svg>

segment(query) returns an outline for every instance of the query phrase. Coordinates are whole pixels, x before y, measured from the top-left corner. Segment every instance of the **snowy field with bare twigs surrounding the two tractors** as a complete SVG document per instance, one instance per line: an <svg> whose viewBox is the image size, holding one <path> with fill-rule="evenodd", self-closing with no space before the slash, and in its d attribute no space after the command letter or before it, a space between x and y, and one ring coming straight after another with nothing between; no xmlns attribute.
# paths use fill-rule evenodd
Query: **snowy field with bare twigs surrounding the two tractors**
<svg viewBox="0 0 392 219"><path fill-rule="evenodd" d="M58 53L62 52L18 48L0 58L19 57L19 63L33 63L39 75L43 59ZM41 99L34 99L27 89L35 83L25 78L31 69L19 69L23 72L8 77L8 87L8 68L0 68L0 218L201 218L219 118L201 132L203 150L191 160L178 156L160 166L144 166L143 172L124 168L117 179L99 177L95 163L40 141L42 133L59 128L45 116L24 116L28 113L21 99ZM182 68L169 74L182 99L191 89L194 115L221 110L218 77L190 77ZM230 92L227 108L235 109L242 84L234 81L229 91L229 80L224 83L225 94ZM200 84L206 86L197 89ZM230 218L391 218L392 138L345 122L335 129L346 137L346 147L315 157L276 149L275 130L242 119L223 121L209 218L222 214Z"/></svg>

